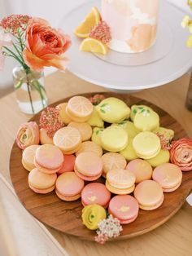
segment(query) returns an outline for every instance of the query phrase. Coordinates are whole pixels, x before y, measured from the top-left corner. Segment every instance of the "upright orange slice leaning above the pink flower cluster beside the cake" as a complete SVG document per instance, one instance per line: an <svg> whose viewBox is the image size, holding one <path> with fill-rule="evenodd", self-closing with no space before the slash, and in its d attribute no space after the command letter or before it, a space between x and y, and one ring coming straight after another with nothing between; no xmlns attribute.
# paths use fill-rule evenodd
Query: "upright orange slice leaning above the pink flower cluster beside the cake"
<svg viewBox="0 0 192 256"><path fill-rule="evenodd" d="M85 20L75 29L74 33L78 38L88 38L91 29L99 23L101 16L96 7L93 7Z"/></svg>

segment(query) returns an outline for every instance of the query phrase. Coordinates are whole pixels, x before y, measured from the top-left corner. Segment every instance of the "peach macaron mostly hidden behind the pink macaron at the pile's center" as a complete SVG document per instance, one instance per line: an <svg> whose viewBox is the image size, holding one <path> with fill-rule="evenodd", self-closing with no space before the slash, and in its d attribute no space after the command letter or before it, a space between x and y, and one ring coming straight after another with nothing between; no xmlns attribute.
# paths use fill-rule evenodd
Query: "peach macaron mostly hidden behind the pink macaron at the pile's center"
<svg viewBox="0 0 192 256"><path fill-rule="evenodd" d="M103 155L102 147L100 147L97 143L94 143L93 141L85 141L81 143L81 148L76 152L76 157L81 152L94 152L98 155L98 157L102 157Z"/></svg>

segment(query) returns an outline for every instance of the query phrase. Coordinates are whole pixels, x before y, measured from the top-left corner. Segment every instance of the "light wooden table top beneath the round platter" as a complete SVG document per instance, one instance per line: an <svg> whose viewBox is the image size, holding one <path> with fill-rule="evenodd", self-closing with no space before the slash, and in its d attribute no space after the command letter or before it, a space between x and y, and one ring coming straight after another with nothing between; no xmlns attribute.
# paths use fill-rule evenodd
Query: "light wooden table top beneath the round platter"
<svg viewBox="0 0 192 256"><path fill-rule="evenodd" d="M143 90L135 96L151 101L164 108L186 130L192 138L192 113L185 108L185 95L189 76L185 75L167 86ZM85 82L72 73L54 73L46 77L46 90L50 104L75 94L105 91L105 89ZM15 134L24 121L30 116L21 113L17 107L15 94L11 93L0 99L0 163L1 173L11 183L9 175L9 157ZM98 245L94 242L81 241L73 236L66 236L50 227L47 229L68 251L69 255L190 255L192 250L192 208L185 203L167 223L152 232L125 241L108 242ZM19 232L19 231L18 231Z"/></svg>

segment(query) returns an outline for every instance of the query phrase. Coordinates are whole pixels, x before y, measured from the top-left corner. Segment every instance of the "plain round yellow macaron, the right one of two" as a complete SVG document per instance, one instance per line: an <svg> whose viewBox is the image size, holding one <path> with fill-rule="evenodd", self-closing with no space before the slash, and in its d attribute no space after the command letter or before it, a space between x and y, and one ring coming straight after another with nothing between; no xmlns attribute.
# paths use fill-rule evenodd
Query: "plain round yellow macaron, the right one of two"
<svg viewBox="0 0 192 256"><path fill-rule="evenodd" d="M160 139L151 131L142 131L133 139L133 148L138 157L150 159L159 154Z"/></svg>

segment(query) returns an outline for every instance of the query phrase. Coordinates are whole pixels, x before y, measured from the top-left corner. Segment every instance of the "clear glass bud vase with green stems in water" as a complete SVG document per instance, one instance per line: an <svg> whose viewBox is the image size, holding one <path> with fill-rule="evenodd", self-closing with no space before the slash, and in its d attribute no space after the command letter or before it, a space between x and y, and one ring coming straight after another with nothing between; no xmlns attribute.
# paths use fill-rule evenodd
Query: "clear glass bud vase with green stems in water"
<svg viewBox="0 0 192 256"><path fill-rule="evenodd" d="M23 113L35 114L47 106L43 72L17 66L13 68L17 103Z"/></svg>

